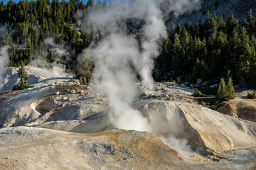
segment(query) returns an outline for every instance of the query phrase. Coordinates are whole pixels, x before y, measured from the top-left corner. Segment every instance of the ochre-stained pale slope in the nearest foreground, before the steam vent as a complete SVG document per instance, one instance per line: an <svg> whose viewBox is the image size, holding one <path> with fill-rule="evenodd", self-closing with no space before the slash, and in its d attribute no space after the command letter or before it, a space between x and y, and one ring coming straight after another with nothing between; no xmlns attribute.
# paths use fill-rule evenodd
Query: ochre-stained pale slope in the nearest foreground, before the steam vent
<svg viewBox="0 0 256 170"><path fill-rule="evenodd" d="M0 130L1 169L253 169L186 157L148 132L76 134L41 128Z"/></svg>

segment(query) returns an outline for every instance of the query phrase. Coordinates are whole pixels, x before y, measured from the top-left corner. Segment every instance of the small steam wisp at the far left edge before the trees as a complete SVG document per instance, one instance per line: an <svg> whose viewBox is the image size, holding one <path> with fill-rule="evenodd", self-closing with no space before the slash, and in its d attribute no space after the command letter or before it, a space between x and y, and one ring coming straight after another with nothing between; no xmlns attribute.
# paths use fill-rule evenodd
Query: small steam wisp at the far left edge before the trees
<svg viewBox="0 0 256 170"><path fill-rule="evenodd" d="M3 79L2 74L4 74L4 71L6 70L6 67L9 63L9 57L8 57L8 49L9 45L5 45L4 47L0 48L0 79Z"/></svg>

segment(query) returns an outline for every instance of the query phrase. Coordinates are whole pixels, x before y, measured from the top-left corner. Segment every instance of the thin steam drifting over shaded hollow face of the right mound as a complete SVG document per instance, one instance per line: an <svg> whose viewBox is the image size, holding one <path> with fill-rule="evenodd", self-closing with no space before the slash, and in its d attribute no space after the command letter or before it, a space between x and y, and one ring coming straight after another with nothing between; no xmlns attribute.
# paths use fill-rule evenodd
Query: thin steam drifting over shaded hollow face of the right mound
<svg viewBox="0 0 256 170"><path fill-rule="evenodd" d="M151 120L151 132L179 152L193 153L185 138L183 111L175 103L150 103L146 109Z"/></svg>

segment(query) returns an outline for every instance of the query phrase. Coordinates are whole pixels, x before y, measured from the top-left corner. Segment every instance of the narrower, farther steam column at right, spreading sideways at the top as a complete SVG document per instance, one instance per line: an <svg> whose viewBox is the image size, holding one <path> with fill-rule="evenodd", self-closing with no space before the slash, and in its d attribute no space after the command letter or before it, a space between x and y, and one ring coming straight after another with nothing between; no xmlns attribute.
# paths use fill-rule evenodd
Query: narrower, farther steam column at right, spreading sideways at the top
<svg viewBox="0 0 256 170"><path fill-rule="evenodd" d="M130 1L129 4L125 4L123 1L114 1L107 8L92 7L90 13L85 16L85 31L97 28L108 30L110 33L119 32L130 18L146 23L141 30L142 52L139 57L136 57L137 62L134 64L135 69L142 77L144 86L149 89L154 88L151 74L154 68L154 59L159 55L159 41L166 38L167 35L164 16L160 10L163 5L168 6L169 13L178 16L198 10L201 0L138 0ZM81 11L78 16L80 15Z"/></svg>

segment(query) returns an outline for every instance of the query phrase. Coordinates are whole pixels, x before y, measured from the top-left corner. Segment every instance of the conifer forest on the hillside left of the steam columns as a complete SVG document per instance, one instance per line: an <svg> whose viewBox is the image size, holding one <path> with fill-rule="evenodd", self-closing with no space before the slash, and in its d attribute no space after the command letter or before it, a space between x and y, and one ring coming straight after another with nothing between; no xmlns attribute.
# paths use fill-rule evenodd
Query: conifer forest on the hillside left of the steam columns
<svg viewBox="0 0 256 170"><path fill-rule="evenodd" d="M90 45L92 35L78 32L73 26L77 23L75 12L92 5L107 6L100 1L95 4L93 0L87 4L82 4L81 0L64 0L61 3L58 0L9 1L6 5L1 1L0 24L2 30L5 26L6 31L0 35L0 45L11 46L9 67L28 64L33 56L45 50L49 52L46 60L53 62L56 56L50 52L49 45L43 43L49 37L55 38L60 45L68 44L72 61L76 61L75 57ZM73 64L68 63L68 68Z"/></svg>

